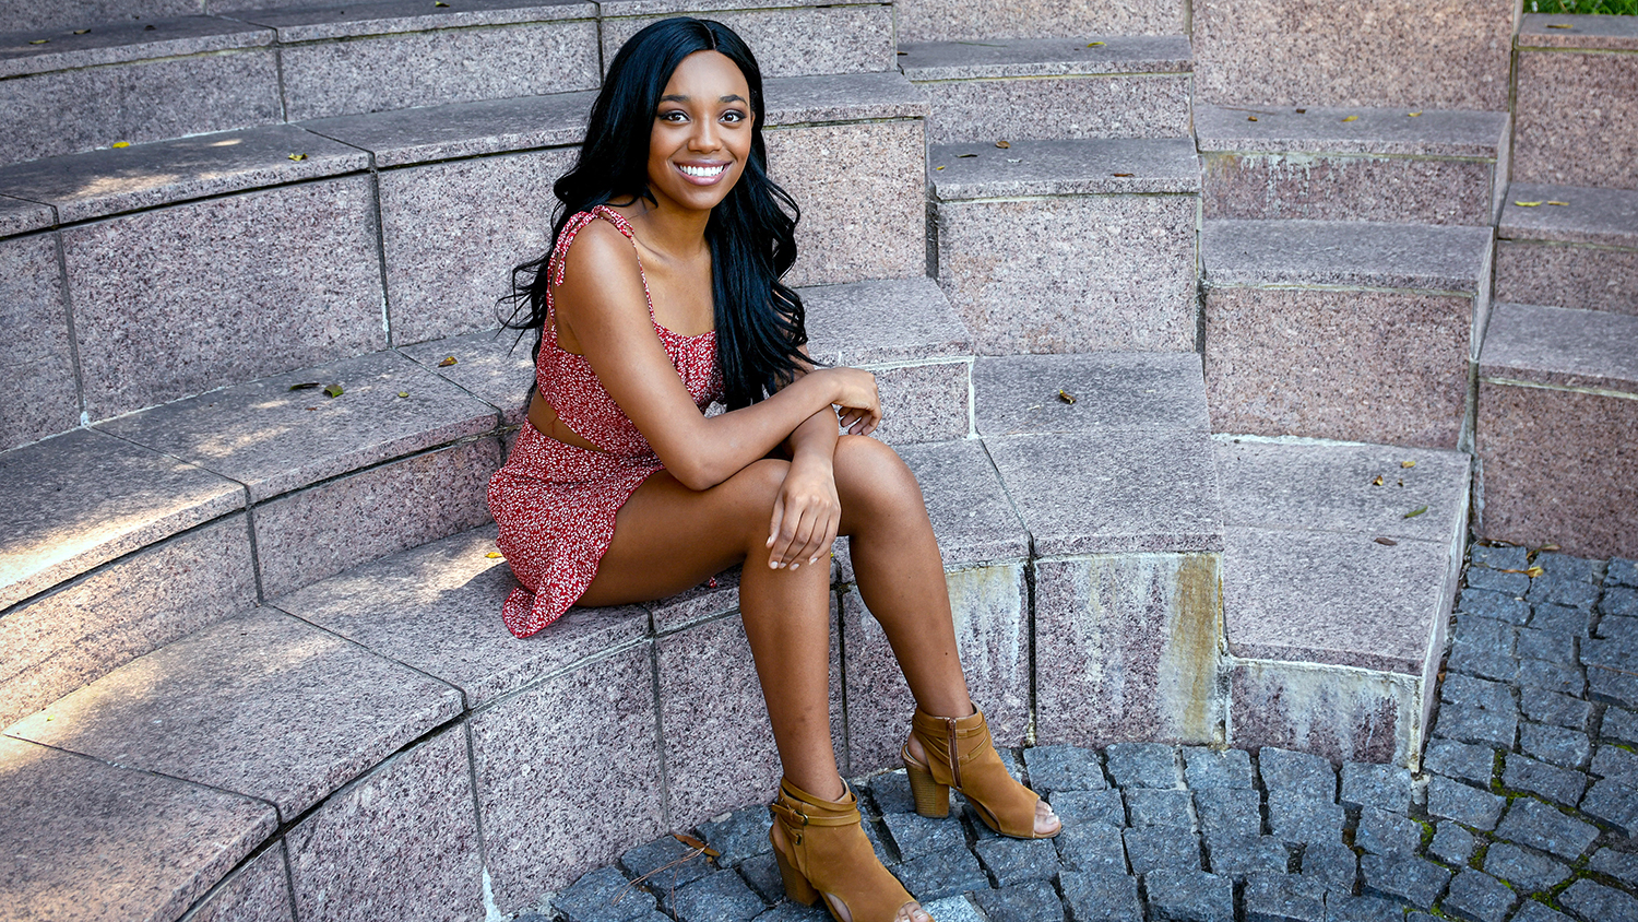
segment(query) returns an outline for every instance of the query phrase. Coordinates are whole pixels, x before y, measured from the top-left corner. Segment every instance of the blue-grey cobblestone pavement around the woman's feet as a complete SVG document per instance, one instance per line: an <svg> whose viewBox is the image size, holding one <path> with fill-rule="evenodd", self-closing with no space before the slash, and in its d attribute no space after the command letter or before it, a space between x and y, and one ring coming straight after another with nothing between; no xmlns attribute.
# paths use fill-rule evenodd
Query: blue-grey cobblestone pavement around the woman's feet
<svg viewBox="0 0 1638 922"><path fill-rule="evenodd" d="M1453 617L1419 776L1043 745L1011 758L1063 817L1055 840L922 819L903 771L853 783L867 830L939 922L1638 922L1638 565L1476 545ZM767 829L753 806L695 830L716 860L632 848L519 922L829 919L785 901Z"/></svg>

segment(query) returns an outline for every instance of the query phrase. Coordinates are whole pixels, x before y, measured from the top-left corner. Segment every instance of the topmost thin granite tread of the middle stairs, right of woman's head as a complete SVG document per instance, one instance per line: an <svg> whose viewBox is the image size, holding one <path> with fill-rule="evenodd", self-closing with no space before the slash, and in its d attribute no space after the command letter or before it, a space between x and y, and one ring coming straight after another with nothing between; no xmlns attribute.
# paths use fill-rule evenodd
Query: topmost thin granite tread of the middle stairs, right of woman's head
<svg viewBox="0 0 1638 922"><path fill-rule="evenodd" d="M1188 36L1081 36L901 43L899 70L914 84L1032 77L1189 74Z"/></svg>

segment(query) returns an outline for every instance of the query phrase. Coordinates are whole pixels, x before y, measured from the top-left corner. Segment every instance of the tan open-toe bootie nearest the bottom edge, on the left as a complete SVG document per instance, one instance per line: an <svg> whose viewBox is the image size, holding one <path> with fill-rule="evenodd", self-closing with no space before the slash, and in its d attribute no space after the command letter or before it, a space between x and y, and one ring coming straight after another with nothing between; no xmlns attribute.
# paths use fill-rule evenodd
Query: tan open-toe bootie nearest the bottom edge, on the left
<svg viewBox="0 0 1638 922"><path fill-rule="evenodd" d="M785 834L785 847L768 830L773 858L780 863L785 896L812 906L822 896L837 922L893 922L899 909L916 902L904 884L881 866L858 824L858 799L847 789L840 801L826 801L781 780L780 796L768 806L773 822Z"/></svg>

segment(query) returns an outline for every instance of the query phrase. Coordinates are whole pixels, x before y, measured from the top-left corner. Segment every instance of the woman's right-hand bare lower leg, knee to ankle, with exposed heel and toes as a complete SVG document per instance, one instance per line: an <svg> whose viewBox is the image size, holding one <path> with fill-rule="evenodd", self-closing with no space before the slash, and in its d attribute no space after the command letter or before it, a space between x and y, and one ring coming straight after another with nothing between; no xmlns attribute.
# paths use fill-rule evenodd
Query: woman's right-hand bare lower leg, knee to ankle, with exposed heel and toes
<svg viewBox="0 0 1638 922"><path fill-rule="evenodd" d="M842 436L834 467L858 594L881 622L916 704L940 717L971 714L950 588L916 477L898 452L862 436ZM914 737L909 748L927 758ZM1047 835L1057 827L1052 807L1040 801L1035 832Z"/></svg>

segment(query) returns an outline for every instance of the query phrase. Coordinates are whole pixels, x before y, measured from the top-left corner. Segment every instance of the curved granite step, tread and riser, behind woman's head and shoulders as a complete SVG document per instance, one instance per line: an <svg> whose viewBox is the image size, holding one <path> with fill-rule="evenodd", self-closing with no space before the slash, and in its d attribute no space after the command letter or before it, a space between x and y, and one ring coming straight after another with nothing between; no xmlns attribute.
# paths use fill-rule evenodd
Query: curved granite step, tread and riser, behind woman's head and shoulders
<svg viewBox="0 0 1638 922"><path fill-rule="evenodd" d="M804 218L786 282L925 275L927 103L909 82L790 77L767 97L771 172ZM511 269L545 249L536 192L568 169L590 100L342 116L0 167L0 295L20 321L0 357L23 395L0 414L0 445L493 329ZM819 160L832 169L804 169Z"/></svg>

